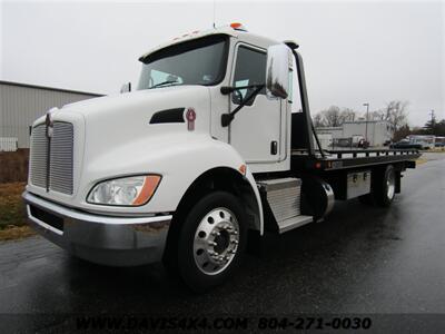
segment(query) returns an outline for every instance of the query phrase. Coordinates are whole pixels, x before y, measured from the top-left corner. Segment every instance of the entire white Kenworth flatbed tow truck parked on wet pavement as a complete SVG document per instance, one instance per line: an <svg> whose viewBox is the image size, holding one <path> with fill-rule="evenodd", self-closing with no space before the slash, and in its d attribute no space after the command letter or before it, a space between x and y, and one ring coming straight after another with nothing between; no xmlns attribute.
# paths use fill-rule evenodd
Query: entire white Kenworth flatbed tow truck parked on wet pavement
<svg viewBox="0 0 445 334"><path fill-rule="evenodd" d="M136 91L49 110L32 126L30 224L93 263L162 261L204 292L248 243L322 222L334 199L389 206L419 154L322 149L297 48L237 23L195 31L140 57Z"/></svg>

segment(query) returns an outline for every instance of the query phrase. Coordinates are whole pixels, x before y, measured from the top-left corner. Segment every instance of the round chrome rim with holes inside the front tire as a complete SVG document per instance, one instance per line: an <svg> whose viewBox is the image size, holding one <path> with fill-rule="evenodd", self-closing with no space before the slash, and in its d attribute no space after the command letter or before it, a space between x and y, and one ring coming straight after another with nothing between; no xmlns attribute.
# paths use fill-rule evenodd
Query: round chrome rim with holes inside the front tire
<svg viewBox="0 0 445 334"><path fill-rule="evenodd" d="M224 272L236 256L239 225L228 208L219 207L204 216L195 233L194 258L206 275Z"/></svg>

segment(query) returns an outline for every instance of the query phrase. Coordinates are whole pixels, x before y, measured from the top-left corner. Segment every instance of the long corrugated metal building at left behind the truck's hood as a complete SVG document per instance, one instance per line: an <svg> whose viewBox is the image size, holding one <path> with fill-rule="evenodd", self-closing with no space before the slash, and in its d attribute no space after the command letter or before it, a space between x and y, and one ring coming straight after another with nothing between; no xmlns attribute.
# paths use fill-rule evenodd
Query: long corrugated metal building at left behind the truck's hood
<svg viewBox="0 0 445 334"><path fill-rule="evenodd" d="M29 148L30 126L48 109L98 96L100 95L0 80L2 146L17 140L18 148Z"/></svg>

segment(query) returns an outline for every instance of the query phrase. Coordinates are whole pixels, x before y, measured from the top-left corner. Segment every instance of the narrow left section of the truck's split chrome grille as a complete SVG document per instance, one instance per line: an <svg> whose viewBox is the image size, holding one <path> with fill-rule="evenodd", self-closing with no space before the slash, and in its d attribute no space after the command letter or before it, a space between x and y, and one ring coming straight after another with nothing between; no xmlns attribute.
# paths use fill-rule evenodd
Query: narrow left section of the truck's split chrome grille
<svg viewBox="0 0 445 334"><path fill-rule="evenodd" d="M44 125L39 125L32 129L30 177L31 184L38 187L47 187L47 159L48 159L48 138Z"/></svg>

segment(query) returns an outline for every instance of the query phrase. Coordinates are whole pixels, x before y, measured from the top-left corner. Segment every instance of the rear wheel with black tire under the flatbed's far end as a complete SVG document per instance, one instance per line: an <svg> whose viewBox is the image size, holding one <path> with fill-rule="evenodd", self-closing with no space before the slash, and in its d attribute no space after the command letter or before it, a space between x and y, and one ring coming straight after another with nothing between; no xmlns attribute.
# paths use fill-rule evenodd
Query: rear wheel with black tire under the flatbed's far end
<svg viewBox="0 0 445 334"><path fill-rule="evenodd" d="M373 181L373 197L376 205L388 207L395 197L396 174L392 165L376 174Z"/></svg>

